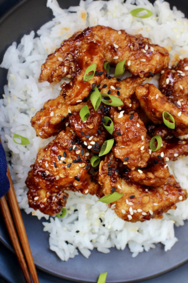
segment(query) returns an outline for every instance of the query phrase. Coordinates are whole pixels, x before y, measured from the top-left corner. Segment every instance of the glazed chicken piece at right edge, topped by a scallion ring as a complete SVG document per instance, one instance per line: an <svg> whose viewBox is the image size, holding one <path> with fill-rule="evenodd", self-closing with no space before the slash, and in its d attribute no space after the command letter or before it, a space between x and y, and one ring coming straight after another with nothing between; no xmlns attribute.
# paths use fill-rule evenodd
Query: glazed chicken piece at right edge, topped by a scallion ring
<svg viewBox="0 0 188 283"><path fill-rule="evenodd" d="M175 120L175 136L188 133L188 113L180 113L179 109L161 93L153 84L146 83L136 87L136 96L148 118L155 124L162 124L162 113L170 113Z"/></svg>

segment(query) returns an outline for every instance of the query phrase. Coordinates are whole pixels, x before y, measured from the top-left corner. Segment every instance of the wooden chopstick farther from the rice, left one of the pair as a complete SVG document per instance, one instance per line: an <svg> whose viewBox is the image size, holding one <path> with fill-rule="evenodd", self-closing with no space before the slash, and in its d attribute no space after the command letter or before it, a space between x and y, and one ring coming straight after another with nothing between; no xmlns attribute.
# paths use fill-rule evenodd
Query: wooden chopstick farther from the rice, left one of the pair
<svg viewBox="0 0 188 283"><path fill-rule="evenodd" d="M12 242L13 248L16 252L16 256L18 258L18 262L19 262L20 267L22 269L22 273L24 275L24 278L25 278L26 282L32 283L31 277L30 277L30 274L29 274L29 271L28 271L28 268L27 268L27 264L25 262L24 255L23 255L22 249L20 247L20 242L18 240L18 236L17 236L16 230L15 230L13 219L12 219L12 216L11 216L11 213L10 213L10 210L9 210L9 206L7 204L7 200L6 200L5 196L0 199L0 208L2 210L3 218L4 218L5 224L7 226L7 229L8 229L10 238L11 238L11 242Z"/></svg>

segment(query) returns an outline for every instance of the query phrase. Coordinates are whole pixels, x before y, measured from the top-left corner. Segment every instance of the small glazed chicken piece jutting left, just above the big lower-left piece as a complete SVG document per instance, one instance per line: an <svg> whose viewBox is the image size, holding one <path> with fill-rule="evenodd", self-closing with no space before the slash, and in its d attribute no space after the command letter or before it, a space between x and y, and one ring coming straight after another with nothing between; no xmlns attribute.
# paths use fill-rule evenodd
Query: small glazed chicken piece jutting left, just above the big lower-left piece
<svg viewBox="0 0 188 283"><path fill-rule="evenodd" d="M36 112L31 119L31 125L37 136L41 138L56 135L65 127L65 118L69 116L69 113L79 112L84 105L85 103L80 103L76 106L69 106L66 104L65 98L58 96L48 100L43 108Z"/></svg>

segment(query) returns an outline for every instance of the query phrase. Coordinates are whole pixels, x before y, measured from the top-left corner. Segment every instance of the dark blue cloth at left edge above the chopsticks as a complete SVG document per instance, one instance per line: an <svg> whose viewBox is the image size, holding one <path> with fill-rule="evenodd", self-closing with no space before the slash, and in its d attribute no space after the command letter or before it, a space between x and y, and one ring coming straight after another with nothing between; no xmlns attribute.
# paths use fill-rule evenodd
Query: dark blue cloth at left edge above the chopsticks
<svg viewBox="0 0 188 283"><path fill-rule="evenodd" d="M10 182L7 177L7 160L5 151L0 143L0 198L3 197L10 188Z"/></svg>

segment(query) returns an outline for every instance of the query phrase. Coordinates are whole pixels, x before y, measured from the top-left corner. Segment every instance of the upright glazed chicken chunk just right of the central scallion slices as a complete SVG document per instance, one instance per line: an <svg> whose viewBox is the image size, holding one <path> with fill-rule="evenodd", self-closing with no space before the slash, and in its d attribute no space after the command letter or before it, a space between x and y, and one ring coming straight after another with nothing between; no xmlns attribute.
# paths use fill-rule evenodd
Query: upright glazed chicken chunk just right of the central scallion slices
<svg viewBox="0 0 188 283"><path fill-rule="evenodd" d="M149 141L146 139L146 127L138 114L127 115L110 111L114 123L113 136L116 144L112 148L116 158L119 158L129 168L146 167L149 155Z"/></svg>

